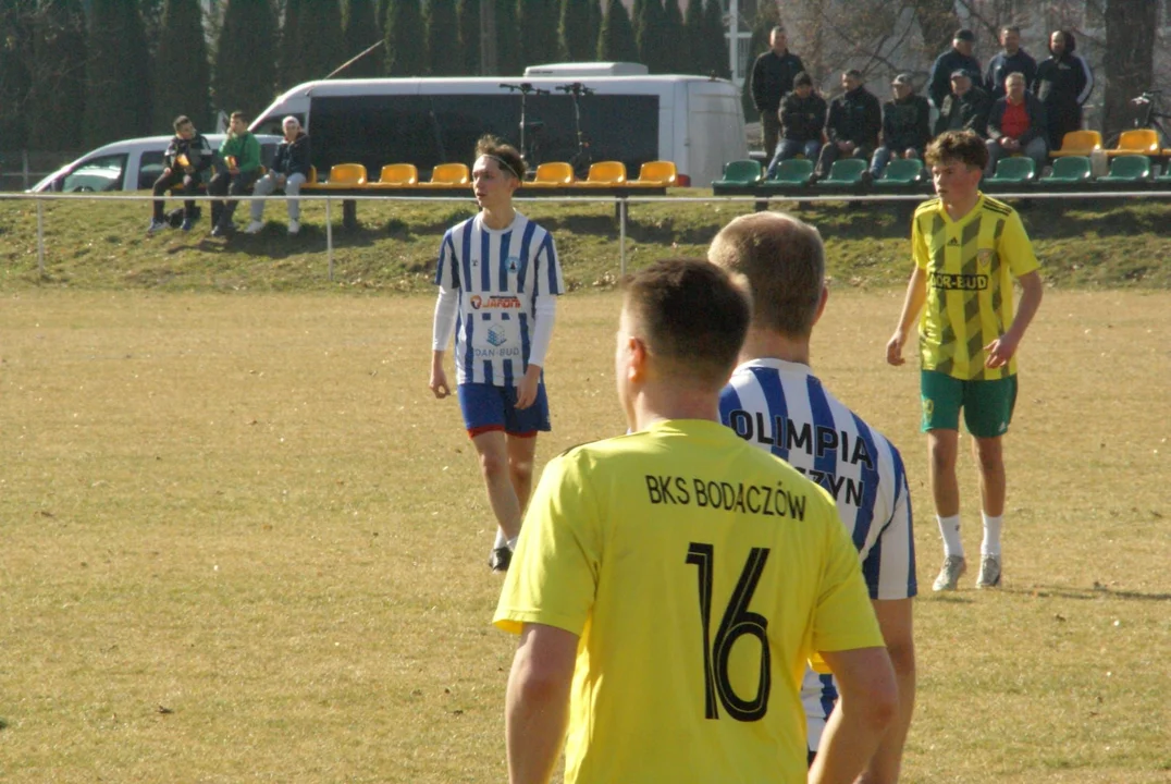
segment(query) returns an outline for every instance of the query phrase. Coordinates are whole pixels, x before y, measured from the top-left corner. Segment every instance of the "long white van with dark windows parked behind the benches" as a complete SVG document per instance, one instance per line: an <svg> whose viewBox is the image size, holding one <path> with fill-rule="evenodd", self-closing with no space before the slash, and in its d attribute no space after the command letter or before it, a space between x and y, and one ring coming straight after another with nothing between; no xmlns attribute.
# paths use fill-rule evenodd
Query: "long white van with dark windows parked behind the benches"
<svg viewBox="0 0 1171 784"><path fill-rule="evenodd" d="M546 67L550 68L550 67ZM526 158L532 164L581 163L574 97L588 159L622 161L630 177L648 161L672 161L680 185L706 185L724 163L747 157L740 95L725 80L703 76L587 76L559 68L556 76L333 80L299 84L276 98L252 124L253 132L280 132L296 117L313 138L319 172L338 163L365 165L377 179L388 163L413 163L422 173L444 162L471 162L475 141L495 134L520 142L521 93L526 84ZM560 88L560 89L559 89Z"/></svg>

